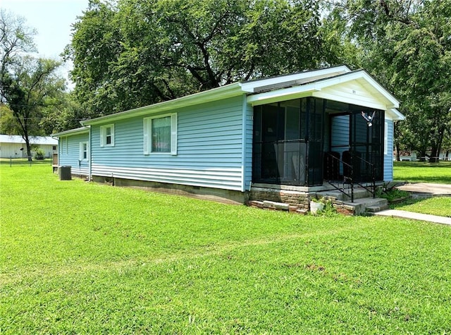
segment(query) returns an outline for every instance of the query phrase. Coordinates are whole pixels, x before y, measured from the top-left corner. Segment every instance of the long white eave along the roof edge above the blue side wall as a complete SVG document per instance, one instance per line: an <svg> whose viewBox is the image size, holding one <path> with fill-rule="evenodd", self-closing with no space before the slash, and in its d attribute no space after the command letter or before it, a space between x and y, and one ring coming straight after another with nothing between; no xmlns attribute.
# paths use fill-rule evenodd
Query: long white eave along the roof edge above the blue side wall
<svg viewBox="0 0 451 335"><path fill-rule="evenodd" d="M82 124L82 126L86 126L114 122L123 120L125 118L155 114L162 111L172 111L174 109L192 106L194 104L202 104L205 102L213 102L229 97L237 97L242 94L244 94L244 92L242 91L241 83L233 83L217 87L212 90L194 93L194 95L187 95L185 97L168 100L166 102L159 102L157 104L151 104L149 106L139 107L137 109L121 111L116 114L101 116L99 118L93 118L92 120L81 121L80 123Z"/></svg>

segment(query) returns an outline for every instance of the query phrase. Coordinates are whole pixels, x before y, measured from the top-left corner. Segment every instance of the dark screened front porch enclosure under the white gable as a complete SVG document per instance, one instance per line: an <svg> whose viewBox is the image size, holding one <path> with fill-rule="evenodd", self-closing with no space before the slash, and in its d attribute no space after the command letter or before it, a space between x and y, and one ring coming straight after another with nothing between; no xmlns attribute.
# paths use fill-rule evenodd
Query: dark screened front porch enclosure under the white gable
<svg viewBox="0 0 451 335"><path fill-rule="evenodd" d="M252 182L382 181L383 132L384 111L364 106L315 97L254 106Z"/></svg>

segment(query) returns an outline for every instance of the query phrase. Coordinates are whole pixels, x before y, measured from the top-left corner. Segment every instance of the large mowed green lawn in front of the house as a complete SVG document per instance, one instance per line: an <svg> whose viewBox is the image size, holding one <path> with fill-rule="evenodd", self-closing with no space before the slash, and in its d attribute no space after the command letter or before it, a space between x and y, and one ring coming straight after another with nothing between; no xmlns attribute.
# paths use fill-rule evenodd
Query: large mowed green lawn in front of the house
<svg viewBox="0 0 451 335"><path fill-rule="evenodd" d="M0 166L1 334L448 334L451 227Z"/></svg>

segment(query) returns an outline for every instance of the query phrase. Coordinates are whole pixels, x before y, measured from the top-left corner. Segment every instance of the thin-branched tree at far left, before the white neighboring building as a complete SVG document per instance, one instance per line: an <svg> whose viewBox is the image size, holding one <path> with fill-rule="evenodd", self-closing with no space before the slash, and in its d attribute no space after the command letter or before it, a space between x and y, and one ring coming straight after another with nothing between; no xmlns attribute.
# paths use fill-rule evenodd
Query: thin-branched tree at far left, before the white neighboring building
<svg viewBox="0 0 451 335"><path fill-rule="evenodd" d="M31 160L30 137L45 135L40 126L44 109L58 105L58 95L65 90L65 80L56 75L61 63L25 54L35 47L34 30L25 26L23 18L0 11L0 30L1 104L11 111L2 113L2 121L8 120L8 130L22 135Z"/></svg>

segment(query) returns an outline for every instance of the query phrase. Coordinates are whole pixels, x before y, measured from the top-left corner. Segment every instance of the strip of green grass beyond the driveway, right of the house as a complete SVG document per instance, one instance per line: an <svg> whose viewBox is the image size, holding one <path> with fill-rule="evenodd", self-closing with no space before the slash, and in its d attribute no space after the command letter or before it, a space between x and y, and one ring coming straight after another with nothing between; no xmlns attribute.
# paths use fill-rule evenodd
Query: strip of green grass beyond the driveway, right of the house
<svg viewBox="0 0 451 335"><path fill-rule="evenodd" d="M393 177L409 183L451 183L451 162L394 162Z"/></svg>

